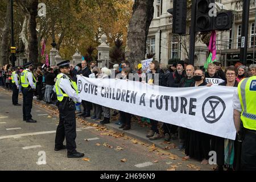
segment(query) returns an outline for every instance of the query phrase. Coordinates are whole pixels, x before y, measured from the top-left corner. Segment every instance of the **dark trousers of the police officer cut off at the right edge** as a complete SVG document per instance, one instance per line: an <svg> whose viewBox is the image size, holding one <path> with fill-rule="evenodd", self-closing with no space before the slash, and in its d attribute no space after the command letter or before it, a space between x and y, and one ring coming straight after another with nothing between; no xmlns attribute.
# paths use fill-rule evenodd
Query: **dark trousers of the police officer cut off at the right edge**
<svg viewBox="0 0 256 182"><path fill-rule="evenodd" d="M245 129L241 150L241 170L256 171L256 130Z"/></svg>

